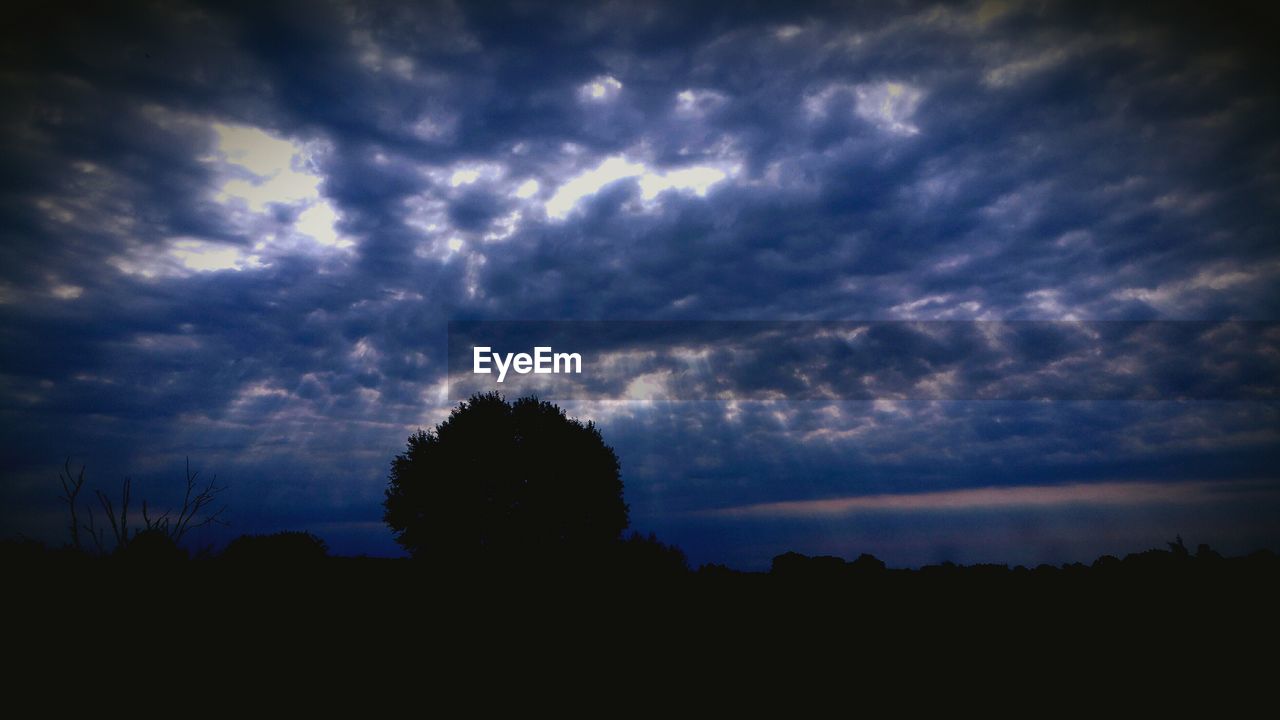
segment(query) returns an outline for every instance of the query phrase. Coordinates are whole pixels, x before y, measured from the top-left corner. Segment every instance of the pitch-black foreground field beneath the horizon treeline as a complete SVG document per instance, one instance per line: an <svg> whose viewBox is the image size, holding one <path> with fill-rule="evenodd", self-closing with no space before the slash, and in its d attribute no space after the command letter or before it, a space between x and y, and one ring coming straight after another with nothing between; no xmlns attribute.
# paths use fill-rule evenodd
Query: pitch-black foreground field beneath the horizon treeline
<svg viewBox="0 0 1280 720"><path fill-rule="evenodd" d="M60 707L156 689L228 712L270 697L296 715L340 692L447 717L685 703L718 716L765 698L792 717L882 703L1151 712L1207 696L1204 716L1220 717L1271 702L1280 641L1272 553L500 574L44 556L5 571L8 687Z"/></svg>

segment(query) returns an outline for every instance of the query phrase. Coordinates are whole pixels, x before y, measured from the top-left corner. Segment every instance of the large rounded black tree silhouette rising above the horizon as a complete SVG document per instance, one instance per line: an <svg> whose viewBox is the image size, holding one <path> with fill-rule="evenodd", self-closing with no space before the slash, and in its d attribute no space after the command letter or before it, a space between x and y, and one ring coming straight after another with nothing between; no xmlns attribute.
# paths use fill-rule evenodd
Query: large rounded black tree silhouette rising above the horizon
<svg viewBox="0 0 1280 720"><path fill-rule="evenodd" d="M498 393L410 436L384 507L404 550L452 566L598 557L627 527L618 459L595 425Z"/></svg>

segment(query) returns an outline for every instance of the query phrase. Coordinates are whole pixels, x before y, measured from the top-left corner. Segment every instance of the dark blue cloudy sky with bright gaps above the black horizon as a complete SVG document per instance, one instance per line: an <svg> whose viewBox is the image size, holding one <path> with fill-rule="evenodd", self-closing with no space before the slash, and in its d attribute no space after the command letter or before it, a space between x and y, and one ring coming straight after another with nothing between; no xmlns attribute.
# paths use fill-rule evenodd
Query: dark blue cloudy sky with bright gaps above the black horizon
<svg viewBox="0 0 1280 720"><path fill-rule="evenodd" d="M12 5L4 534L59 537L68 456L161 505L189 456L204 542L396 553L456 320L1231 320L1146 346L1215 357L1189 397L940 392L1005 365L890 323L932 389L564 406L695 562L1280 547L1277 19L1114 5Z"/></svg>

